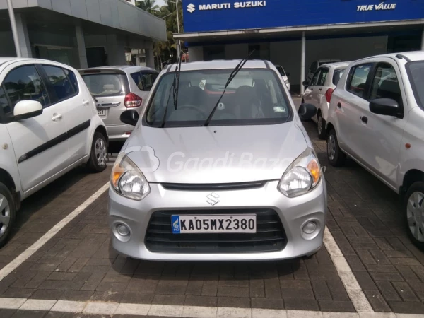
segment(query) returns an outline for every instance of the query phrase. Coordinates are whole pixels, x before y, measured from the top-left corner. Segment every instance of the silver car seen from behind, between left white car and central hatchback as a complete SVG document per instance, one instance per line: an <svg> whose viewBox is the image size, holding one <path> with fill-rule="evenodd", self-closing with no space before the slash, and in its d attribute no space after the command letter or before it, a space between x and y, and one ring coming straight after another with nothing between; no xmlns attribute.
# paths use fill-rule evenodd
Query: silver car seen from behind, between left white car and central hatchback
<svg viewBox="0 0 424 318"><path fill-rule="evenodd" d="M98 114L110 141L125 141L133 126L122 123L119 117L129 108L141 112L158 71L142 66L104 66L79 72L98 101Z"/></svg>

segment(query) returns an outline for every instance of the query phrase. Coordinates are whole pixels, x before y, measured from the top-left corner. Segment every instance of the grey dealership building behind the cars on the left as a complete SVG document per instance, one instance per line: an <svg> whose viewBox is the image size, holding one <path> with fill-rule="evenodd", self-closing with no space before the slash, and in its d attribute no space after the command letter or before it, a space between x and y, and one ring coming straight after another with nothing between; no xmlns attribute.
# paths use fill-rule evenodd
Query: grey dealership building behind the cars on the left
<svg viewBox="0 0 424 318"><path fill-rule="evenodd" d="M167 39L165 21L136 8L135 0L12 0L12 5L22 57L78 69L123 65L137 52L143 64L154 67L153 42ZM0 57L16 57L6 0L0 0L0 43Z"/></svg>

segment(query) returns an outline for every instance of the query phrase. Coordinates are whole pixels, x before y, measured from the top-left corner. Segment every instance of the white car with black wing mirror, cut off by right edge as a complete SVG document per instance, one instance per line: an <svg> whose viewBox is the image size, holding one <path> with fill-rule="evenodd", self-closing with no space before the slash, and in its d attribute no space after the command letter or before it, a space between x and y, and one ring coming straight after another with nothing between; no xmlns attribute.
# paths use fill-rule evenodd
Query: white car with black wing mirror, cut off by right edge
<svg viewBox="0 0 424 318"><path fill-rule="evenodd" d="M346 155L400 194L408 235L424 247L424 52L360 59L334 90L329 163Z"/></svg>

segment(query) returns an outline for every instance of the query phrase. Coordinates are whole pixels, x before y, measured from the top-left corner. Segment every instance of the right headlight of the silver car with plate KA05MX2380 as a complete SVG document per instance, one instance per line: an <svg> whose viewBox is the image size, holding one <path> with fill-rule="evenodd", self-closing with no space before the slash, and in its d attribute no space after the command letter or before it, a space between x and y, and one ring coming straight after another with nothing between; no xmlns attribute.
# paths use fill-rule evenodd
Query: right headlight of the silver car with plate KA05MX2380
<svg viewBox="0 0 424 318"><path fill-rule="evenodd" d="M314 150L307 148L285 170L281 181L278 183L278 190L289 198L300 196L317 186L321 174L321 167Z"/></svg>

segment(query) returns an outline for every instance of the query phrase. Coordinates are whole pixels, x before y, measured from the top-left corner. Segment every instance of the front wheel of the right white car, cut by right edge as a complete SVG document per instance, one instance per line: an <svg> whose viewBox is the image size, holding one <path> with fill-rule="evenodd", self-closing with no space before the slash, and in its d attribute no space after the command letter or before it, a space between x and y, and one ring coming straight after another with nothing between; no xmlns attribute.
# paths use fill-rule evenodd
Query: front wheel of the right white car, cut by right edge
<svg viewBox="0 0 424 318"><path fill-rule="evenodd" d="M404 222L413 244L424 249L424 182L413 183L406 192Z"/></svg>

